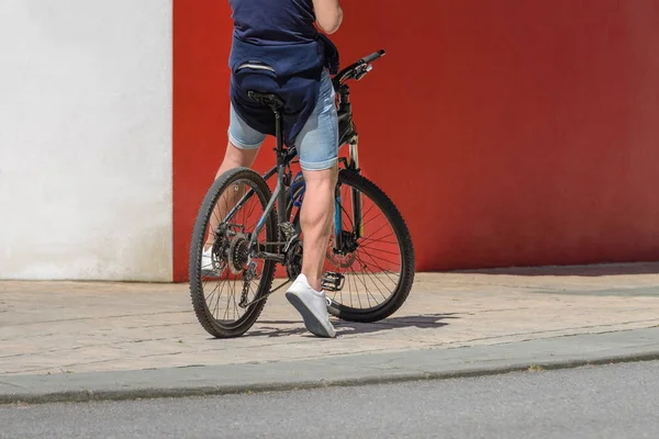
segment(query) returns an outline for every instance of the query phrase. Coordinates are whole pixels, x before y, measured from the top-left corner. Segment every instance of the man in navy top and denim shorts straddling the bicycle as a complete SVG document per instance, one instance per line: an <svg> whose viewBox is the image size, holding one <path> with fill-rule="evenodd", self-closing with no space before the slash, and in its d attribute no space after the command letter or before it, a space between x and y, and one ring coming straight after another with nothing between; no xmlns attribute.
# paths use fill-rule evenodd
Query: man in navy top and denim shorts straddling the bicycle
<svg viewBox="0 0 659 439"><path fill-rule="evenodd" d="M334 337L325 293L323 261L332 230L337 179L338 122L327 67L338 67L330 40L343 21L338 0L230 0L234 19L228 145L216 177L252 167L267 134L273 134L271 110L252 101L248 90L275 93L286 106L283 132L295 145L305 180L301 226L302 273L286 297L319 337ZM315 23L315 25L314 25ZM333 71L334 72L334 71ZM204 258L211 258L210 249Z"/></svg>

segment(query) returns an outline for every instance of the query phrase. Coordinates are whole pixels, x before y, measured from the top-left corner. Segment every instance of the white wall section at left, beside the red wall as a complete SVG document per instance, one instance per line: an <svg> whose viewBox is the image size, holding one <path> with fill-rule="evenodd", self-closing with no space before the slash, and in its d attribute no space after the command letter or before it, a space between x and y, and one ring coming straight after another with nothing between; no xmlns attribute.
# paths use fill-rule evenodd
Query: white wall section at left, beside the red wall
<svg viewBox="0 0 659 439"><path fill-rule="evenodd" d="M171 280L172 0L0 0L0 279Z"/></svg>

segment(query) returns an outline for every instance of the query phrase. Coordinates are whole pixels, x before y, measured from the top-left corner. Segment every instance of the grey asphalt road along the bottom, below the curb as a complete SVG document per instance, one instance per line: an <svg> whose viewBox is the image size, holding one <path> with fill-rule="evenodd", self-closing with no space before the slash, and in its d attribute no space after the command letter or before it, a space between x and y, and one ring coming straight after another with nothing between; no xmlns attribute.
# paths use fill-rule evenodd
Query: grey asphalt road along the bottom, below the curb
<svg viewBox="0 0 659 439"><path fill-rule="evenodd" d="M0 438L658 438L659 362L208 398L0 406Z"/></svg>

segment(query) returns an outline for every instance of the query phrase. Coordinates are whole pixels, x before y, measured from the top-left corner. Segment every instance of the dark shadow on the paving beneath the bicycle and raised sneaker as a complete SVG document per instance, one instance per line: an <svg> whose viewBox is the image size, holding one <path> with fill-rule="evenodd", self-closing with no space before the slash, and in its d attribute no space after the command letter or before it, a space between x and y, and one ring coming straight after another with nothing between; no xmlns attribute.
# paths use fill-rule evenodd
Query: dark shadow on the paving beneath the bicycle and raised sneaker
<svg viewBox="0 0 659 439"><path fill-rule="evenodd" d="M428 314L421 316L405 316L405 317L391 317L375 323L356 323L345 322L333 318L332 324L336 329L337 337L346 335L362 335L373 334L384 330L395 330L404 328L417 328L417 329L438 329L443 326L447 326L448 323L444 322L451 318L460 318L457 313L449 314ZM257 323L258 327L254 330L248 331L244 337L287 337L287 336L308 336L314 337L309 334L304 328L303 322L298 320L263 320ZM272 326L270 326L272 325ZM295 325L294 328L281 328L279 325Z"/></svg>

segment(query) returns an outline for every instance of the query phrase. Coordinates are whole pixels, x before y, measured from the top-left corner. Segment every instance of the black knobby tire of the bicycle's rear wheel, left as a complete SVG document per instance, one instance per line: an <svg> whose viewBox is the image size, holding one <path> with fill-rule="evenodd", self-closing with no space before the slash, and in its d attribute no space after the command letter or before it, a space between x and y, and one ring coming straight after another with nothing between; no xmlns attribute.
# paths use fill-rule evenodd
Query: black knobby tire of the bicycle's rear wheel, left
<svg viewBox="0 0 659 439"><path fill-rule="evenodd" d="M203 199L197 221L194 223L192 241L190 246L189 282L192 307L201 326L215 338L239 337L249 330L266 305L267 294L269 293L275 279L276 263L271 260L264 261L264 268L260 273L257 292L255 293L255 300L264 296L266 297L253 303L246 309L245 315L237 319L233 325L219 322L208 306L202 281L202 252L205 241L205 233L209 221L221 194L238 180L253 183L250 187L255 190L255 194L258 196L260 205L265 211L268 201L272 196L272 193L270 192L270 189L263 177L248 168L235 168L226 171L213 182ZM272 210L272 212L270 212L268 215L265 227L267 241L276 241L277 215L275 210ZM272 249L269 248L268 251L272 251Z"/></svg>

